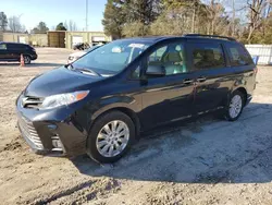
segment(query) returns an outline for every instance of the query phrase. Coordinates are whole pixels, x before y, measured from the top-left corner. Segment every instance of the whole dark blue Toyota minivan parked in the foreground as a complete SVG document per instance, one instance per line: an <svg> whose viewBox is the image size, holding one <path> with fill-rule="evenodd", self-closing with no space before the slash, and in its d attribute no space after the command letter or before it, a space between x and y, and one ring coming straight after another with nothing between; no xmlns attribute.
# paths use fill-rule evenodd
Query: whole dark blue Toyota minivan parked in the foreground
<svg viewBox="0 0 272 205"><path fill-rule="evenodd" d="M256 74L228 37L114 40L33 79L16 100L18 128L38 154L113 162L143 131L215 110L237 120Z"/></svg>

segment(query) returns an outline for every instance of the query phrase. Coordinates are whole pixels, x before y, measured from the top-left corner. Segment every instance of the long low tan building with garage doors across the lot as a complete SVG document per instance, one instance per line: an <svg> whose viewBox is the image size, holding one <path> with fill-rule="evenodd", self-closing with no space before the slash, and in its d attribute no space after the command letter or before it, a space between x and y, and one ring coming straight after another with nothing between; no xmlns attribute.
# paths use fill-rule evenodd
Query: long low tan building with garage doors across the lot
<svg viewBox="0 0 272 205"><path fill-rule="evenodd" d="M78 43L90 46L111 41L112 37L103 32L66 32L53 31L47 34L0 33L0 41L29 44L36 47L55 47L72 49Z"/></svg>

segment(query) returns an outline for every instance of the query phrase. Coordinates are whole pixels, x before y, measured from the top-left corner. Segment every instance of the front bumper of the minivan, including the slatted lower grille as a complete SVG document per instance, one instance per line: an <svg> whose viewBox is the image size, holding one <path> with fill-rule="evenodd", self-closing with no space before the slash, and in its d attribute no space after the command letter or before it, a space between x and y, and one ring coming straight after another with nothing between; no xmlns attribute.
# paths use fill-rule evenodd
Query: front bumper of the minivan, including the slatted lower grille
<svg viewBox="0 0 272 205"><path fill-rule="evenodd" d="M36 154L75 156L86 153L86 133L73 110L67 107L51 110L23 108L22 96L16 101L17 125L22 136Z"/></svg>

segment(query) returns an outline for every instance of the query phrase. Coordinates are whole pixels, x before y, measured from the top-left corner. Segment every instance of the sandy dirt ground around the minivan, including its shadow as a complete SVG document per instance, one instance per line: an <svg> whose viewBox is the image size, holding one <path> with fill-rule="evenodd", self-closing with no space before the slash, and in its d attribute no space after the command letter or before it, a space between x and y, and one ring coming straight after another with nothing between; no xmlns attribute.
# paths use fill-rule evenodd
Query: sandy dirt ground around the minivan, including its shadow
<svg viewBox="0 0 272 205"><path fill-rule="evenodd" d="M149 132L119 162L33 154L14 101L71 50L40 48L18 69L0 63L1 204L272 204L272 68L260 67L252 102L236 122L213 116Z"/></svg>

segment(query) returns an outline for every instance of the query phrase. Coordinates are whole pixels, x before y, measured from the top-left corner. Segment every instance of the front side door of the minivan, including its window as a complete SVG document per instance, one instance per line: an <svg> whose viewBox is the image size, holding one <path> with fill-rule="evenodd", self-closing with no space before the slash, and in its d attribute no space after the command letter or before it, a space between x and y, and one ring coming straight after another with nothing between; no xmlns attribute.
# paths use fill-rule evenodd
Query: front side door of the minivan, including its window
<svg viewBox="0 0 272 205"><path fill-rule="evenodd" d="M185 61L183 41L164 44L147 55L148 67L162 67L164 76L146 75L141 121L145 126L188 118L194 107L194 74Z"/></svg>

